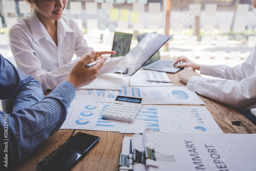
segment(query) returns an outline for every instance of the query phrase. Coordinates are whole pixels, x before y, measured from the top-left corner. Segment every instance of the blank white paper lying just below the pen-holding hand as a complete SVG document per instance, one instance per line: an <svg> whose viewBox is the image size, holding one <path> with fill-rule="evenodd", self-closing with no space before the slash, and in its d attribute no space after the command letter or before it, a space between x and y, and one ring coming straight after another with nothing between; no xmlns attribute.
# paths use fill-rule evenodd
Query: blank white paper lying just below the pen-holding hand
<svg viewBox="0 0 256 171"><path fill-rule="evenodd" d="M121 90L123 75L116 73L100 74L87 86L79 89L98 89L98 90Z"/></svg>

